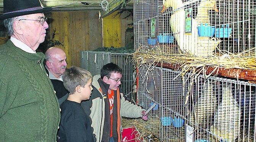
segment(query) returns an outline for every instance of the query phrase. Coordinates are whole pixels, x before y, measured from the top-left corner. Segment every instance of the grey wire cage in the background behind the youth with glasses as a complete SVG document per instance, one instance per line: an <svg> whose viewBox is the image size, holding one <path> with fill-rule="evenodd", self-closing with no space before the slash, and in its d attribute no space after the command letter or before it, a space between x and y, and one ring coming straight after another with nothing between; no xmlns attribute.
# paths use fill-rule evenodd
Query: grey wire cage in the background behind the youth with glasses
<svg viewBox="0 0 256 142"><path fill-rule="evenodd" d="M131 101L136 100L136 96L132 94L134 85L133 73L135 71L131 62L132 57L128 54L100 52L100 51L81 51L81 68L87 69L92 76L100 74L100 69L107 63L115 63L123 69L121 88L124 95Z"/></svg>

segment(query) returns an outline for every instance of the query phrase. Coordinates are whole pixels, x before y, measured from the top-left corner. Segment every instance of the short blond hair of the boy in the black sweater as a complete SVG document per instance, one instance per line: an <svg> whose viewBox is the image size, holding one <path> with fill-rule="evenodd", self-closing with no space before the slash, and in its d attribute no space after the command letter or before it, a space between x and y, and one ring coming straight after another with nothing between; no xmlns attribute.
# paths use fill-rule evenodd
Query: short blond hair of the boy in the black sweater
<svg viewBox="0 0 256 142"><path fill-rule="evenodd" d="M88 81L92 79L92 74L86 69L71 66L70 68L66 69L62 77L66 90L68 90L70 94L74 94L78 85L84 87Z"/></svg>

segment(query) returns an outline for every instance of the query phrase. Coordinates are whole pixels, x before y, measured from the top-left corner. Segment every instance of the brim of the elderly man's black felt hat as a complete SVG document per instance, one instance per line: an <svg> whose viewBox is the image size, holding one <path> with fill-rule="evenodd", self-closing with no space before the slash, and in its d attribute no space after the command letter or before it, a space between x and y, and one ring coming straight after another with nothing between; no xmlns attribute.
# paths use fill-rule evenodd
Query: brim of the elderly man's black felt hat
<svg viewBox="0 0 256 142"><path fill-rule="evenodd" d="M38 9L38 10L34 10L34 11L24 11L24 12L2 14L2 15L0 15L0 20L17 17L17 16L28 15L28 14L45 13L45 12L49 12L51 10L52 10L52 8L43 8L43 9Z"/></svg>

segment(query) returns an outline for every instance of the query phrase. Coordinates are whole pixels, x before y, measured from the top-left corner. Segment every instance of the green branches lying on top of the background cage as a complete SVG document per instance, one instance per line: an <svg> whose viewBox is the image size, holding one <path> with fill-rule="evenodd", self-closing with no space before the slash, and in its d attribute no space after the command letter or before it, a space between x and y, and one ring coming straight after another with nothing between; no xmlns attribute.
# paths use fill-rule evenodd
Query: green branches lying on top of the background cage
<svg viewBox="0 0 256 142"><path fill-rule="evenodd" d="M127 44L125 47L115 48L111 47L99 47L94 51L105 51L105 52L115 52L115 53L133 53L133 44Z"/></svg>

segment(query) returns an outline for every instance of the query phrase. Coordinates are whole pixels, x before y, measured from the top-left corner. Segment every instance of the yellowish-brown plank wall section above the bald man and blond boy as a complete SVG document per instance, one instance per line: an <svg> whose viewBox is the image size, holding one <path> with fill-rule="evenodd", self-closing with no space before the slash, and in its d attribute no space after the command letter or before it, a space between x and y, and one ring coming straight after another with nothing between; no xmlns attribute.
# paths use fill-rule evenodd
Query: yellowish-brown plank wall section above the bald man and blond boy
<svg viewBox="0 0 256 142"><path fill-rule="evenodd" d="M50 13L50 34L63 41L68 67L80 66L80 51L102 47L102 21L98 11L67 11Z"/></svg>

